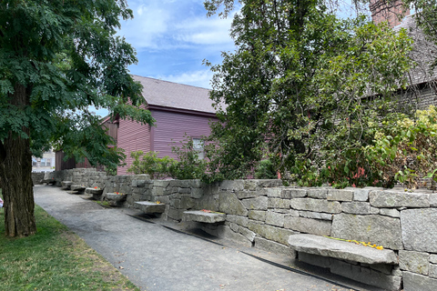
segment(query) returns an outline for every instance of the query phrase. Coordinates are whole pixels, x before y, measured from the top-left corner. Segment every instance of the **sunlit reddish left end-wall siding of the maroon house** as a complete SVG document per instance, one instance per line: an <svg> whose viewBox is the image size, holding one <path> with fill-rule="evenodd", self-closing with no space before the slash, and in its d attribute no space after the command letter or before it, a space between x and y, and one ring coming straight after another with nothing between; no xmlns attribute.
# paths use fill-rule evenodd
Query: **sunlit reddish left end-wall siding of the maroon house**
<svg viewBox="0 0 437 291"><path fill-rule="evenodd" d="M132 165L131 152L142 150L149 152L150 125L140 125L137 122L120 119L117 131L117 147L125 150L126 166L117 167L117 175L127 175L127 168Z"/></svg>

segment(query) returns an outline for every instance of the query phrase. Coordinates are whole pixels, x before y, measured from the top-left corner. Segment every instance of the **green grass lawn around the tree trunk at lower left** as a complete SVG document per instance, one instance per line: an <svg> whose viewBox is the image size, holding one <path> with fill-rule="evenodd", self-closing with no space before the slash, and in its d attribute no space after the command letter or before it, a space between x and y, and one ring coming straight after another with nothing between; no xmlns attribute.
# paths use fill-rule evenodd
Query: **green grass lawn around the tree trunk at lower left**
<svg viewBox="0 0 437 291"><path fill-rule="evenodd" d="M35 209L36 235L23 238L5 237L4 211L0 208L0 290L139 291L41 207Z"/></svg>

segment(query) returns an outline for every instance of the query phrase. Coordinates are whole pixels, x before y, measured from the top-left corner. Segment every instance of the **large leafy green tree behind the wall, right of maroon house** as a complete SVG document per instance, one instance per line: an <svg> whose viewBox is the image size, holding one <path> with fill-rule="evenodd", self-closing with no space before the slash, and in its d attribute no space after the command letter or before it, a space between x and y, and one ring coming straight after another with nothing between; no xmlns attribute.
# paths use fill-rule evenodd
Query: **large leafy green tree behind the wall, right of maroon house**
<svg viewBox="0 0 437 291"><path fill-rule="evenodd" d="M372 140L369 122L399 109L393 93L406 85L411 39L361 16L340 20L322 0L239 4L237 49L211 67L219 109L211 161L220 175L247 176L267 152L300 180L314 183L302 169L318 176L327 162L354 176L352 164ZM220 5L228 15L234 2L207 1L208 13Z"/></svg>

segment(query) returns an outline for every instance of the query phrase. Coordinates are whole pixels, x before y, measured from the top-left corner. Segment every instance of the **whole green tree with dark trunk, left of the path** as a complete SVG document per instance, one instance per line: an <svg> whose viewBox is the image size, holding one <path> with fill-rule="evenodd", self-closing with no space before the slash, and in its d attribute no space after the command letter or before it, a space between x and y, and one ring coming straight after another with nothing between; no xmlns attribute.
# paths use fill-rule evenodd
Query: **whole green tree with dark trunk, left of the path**
<svg viewBox="0 0 437 291"><path fill-rule="evenodd" d="M89 105L143 124L153 119L127 74L135 50L116 36L131 18L125 0L0 2L0 186L5 233L28 236L33 217L31 153L56 144L68 156L114 167L124 157ZM132 105L128 105L130 98Z"/></svg>

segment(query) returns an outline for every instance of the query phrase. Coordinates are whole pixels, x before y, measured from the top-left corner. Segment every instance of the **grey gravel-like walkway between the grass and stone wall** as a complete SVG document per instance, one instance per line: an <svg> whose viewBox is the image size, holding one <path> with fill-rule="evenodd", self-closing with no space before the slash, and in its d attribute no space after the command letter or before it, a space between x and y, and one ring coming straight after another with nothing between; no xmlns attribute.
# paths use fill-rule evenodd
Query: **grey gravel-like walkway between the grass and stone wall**
<svg viewBox="0 0 437 291"><path fill-rule="evenodd" d="M84 238L141 290L349 290L244 252L283 265L291 264L288 258L219 241L223 246L128 216L138 214L134 209L104 208L56 186L35 186L34 191L37 205Z"/></svg>

